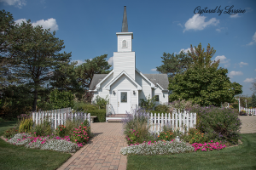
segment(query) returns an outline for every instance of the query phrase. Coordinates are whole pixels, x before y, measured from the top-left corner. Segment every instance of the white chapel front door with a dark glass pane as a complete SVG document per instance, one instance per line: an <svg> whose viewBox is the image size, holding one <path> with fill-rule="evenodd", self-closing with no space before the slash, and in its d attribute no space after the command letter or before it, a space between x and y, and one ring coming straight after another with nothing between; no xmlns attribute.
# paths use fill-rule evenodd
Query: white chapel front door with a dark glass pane
<svg viewBox="0 0 256 170"><path fill-rule="evenodd" d="M131 94L128 90L122 90L118 95L118 114L125 114L126 111L131 111Z"/></svg>

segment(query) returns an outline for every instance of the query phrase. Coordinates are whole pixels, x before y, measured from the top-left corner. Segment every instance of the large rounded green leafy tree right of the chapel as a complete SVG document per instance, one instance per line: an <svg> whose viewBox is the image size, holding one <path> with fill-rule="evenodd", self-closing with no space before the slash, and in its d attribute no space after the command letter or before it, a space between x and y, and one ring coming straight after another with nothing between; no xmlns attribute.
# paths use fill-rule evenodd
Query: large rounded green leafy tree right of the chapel
<svg viewBox="0 0 256 170"><path fill-rule="evenodd" d="M219 61L211 60L215 50L207 46L207 52L201 49L201 43L195 51L191 45L189 56L193 59L192 65L183 74L177 74L169 84L170 101L177 99L191 100L199 105L220 106L224 102L234 101L236 94L241 94L241 85L230 82L228 70L218 69Z"/></svg>

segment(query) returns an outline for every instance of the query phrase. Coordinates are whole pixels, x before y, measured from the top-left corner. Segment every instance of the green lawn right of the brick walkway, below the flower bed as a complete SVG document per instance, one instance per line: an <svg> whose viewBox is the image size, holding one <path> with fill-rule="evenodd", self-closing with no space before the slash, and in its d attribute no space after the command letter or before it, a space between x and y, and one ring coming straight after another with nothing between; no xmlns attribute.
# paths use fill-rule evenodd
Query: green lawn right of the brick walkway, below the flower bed
<svg viewBox="0 0 256 170"><path fill-rule="evenodd" d="M170 156L128 156L127 169L256 169L256 133L241 134L242 145Z"/></svg>

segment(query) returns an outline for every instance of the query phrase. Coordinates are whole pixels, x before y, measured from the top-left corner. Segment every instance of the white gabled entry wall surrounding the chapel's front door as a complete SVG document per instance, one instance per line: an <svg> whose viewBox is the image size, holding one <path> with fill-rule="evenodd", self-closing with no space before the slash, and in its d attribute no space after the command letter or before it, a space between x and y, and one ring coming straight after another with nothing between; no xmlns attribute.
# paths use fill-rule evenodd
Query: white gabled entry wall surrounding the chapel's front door
<svg viewBox="0 0 256 170"><path fill-rule="evenodd" d="M115 95L113 94L113 90L115 91ZM137 85L131 82L131 80L125 75L119 77L119 79L112 84L110 87L110 96L111 96L111 104L113 105L113 110L115 113L118 113L118 90L130 90L131 92L131 107L135 108L137 105ZM136 95L133 94L133 91L136 92Z"/></svg>

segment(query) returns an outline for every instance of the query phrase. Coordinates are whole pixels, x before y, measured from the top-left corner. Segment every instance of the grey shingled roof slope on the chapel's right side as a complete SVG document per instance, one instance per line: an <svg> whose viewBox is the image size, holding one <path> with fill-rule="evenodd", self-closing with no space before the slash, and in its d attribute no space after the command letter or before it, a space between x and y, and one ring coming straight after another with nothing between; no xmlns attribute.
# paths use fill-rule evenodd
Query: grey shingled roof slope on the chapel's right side
<svg viewBox="0 0 256 170"><path fill-rule="evenodd" d="M144 74L150 82L153 82L155 86L163 88L162 90L168 90L169 80L167 74Z"/></svg>

